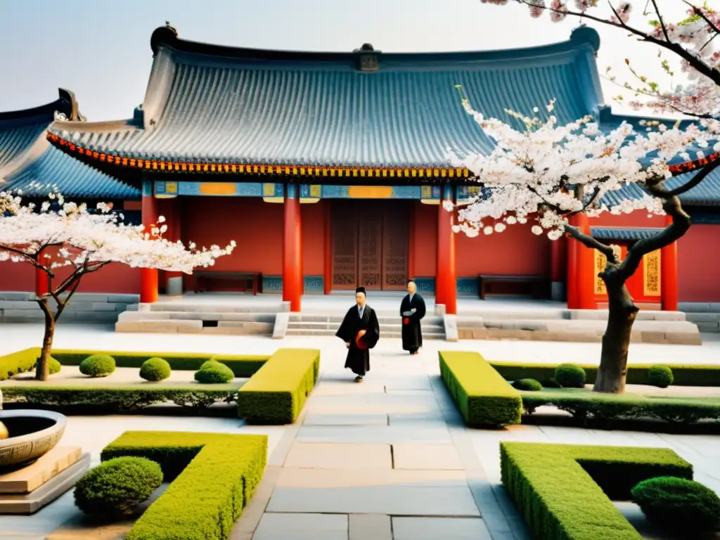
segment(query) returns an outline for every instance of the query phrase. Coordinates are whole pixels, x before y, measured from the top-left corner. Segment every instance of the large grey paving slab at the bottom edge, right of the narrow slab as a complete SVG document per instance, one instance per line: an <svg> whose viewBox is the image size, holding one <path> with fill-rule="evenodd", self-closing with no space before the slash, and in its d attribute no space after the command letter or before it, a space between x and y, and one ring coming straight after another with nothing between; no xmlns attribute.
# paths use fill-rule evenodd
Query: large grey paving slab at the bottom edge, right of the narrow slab
<svg viewBox="0 0 720 540"><path fill-rule="evenodd" d="M392 518L394 540L492 540L480 518Z"/></svg>

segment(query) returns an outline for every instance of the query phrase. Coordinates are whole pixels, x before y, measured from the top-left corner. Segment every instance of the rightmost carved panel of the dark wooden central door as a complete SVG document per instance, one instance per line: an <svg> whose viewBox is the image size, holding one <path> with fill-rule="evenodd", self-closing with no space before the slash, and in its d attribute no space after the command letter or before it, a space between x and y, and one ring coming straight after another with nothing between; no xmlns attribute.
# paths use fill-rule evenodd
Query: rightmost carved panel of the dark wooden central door
<svg viewBox="0 0 720 540"><path fill-rule="evenodd" d="M382 288L405 289L408 280L409 212L404 201L385 204L382 226Z"/></svg>

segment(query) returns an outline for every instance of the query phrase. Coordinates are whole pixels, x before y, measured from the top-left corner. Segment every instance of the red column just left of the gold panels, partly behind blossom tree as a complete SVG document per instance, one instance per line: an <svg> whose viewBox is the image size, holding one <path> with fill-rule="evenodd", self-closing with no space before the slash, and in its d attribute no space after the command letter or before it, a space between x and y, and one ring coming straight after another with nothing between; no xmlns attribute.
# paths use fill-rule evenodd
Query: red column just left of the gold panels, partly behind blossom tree
<svg viewBox="0 0 720 540"><path fill-rule="evenodd" d="M570 217L570 225L590 234L588 216ZM595 310L595 251L586 248L575 238L567 239L567 307L571 310Z"/></svg>

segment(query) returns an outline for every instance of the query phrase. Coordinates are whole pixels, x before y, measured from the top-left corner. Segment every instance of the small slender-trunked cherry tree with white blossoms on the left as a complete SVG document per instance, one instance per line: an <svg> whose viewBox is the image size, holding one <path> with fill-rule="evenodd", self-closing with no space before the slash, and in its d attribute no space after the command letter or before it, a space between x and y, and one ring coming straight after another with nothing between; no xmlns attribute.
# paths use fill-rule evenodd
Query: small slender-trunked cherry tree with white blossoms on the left
<svg viewBox="0 0 720 540"><path fill-rule="evenodd" d="M42 207L23 204L22 199L0 192L0 261L28 264L55 278L55 271L70 270L58 279L50 292L35 301L45 314L42 352L35 377L48 379L50 349L55 323L87 274L110 263L132 267L181 271L192 274L198 266L212 266L217 257L233 251L235 242L220 248L197 249L163 238L167 226L163 217L150 230L122 223L122 216L110 211L108 204L89 210L85 204L65 202L62 195L50 194ZM50 255L49 251L56 254ZM53 300L55 307L50 301Z"/></svg>

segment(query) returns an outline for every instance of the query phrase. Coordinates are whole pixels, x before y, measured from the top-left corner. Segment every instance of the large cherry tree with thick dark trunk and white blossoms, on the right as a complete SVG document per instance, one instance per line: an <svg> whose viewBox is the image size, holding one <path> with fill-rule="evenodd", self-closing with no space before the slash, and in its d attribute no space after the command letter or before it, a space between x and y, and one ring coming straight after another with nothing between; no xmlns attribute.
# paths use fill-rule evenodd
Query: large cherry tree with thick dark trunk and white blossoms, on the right
<svg viewBox="0 0 720 540"><path fill-rule="evenodd" d="M608 292L608 325L603 336L600 369L594 390L624 392L630 333L638 312L626 287L642 257L675 242L690 228L690 216L683 210L678 195L699 184L720 160L699 170L692 179L676 189L667 189L670 178L668 161L684 153L688 145L707 148L706 132L691 124L684 130L660 122L646 122L649 132L637 133L623 123L611 132L602 132L585 117L568 125L557 125L547 106L547 120L539 110L534 117L517 112L508 114L521 122L516 130L500 120L485 118L464 101L482 129L496 142L490 155L451 154L454 166L468 168L485 188L485 194L458 212L456 232L474 236L502 233L508 225L536 220L536 235L551 240L568 233L589 248L606 256L599 277ZM720 150L720 144L716 146ZM639 199L627 199L608 207L603 197L626 184L643 190ZM446 202L446 210L452 204ZM637 241L621 260L619 246L611 246L568 225L568 218L584 212L597 216L602 212L623 214L644 210L650 214L670 215L672 223L652 238Z"/></svg>

